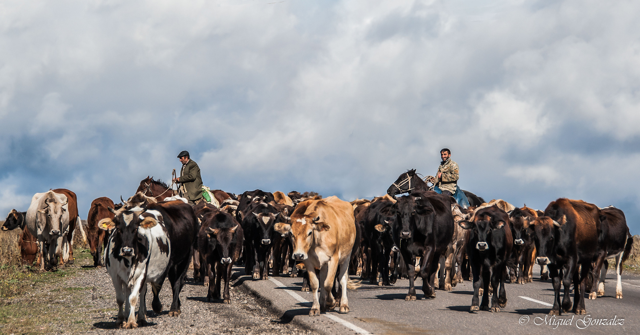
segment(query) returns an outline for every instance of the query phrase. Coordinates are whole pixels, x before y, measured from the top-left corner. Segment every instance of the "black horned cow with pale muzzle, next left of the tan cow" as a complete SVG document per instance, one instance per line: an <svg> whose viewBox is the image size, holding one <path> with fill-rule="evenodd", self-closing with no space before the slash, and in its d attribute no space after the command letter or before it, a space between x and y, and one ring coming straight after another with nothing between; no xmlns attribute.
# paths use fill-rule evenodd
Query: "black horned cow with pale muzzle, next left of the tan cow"
<svg viewBox="0 0 640 335"><path fill-rule="evenodd" d="M244 273L253 272L253 279L268 279L269 257L276 238L273 224L281 221L280 212L268 203L253 202L244 209Z"/></svg>

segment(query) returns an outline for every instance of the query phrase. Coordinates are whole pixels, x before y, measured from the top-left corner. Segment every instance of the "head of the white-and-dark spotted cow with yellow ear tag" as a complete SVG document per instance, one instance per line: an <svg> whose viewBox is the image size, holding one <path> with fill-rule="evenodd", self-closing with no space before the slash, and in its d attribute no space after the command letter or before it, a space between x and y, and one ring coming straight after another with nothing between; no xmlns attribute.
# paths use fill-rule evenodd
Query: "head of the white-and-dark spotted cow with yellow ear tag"
<svg viewBox="0 0 640 335"><path fill-rule="evenodd" d="M112 231L113 255L116 258L146 258L149 244L145 236L146 230L162 221L162 215L156 211L147 212L144 208L138 212L116 211L111 207L109 210L115 214L115 217L100 220L98 227Z"/></svg>

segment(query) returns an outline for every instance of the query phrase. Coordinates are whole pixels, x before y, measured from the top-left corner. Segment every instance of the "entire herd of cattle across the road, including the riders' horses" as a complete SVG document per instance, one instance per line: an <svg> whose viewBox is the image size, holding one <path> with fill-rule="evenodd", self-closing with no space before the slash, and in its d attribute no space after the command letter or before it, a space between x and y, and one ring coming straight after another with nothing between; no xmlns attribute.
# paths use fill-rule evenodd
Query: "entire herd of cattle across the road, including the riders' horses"
<svg viewBox="0 0 640 335"><path fill-rule="evenodd" d="M589 299L604 295L607 260L613 258L616 297L622 298L620 273L633 243L625 215L612 206L560 198L540 211L501 199L484 203L469 193L471 206L462 208L451 196L429 191L415 170L371 201L349 203L295 191L213 194L212 203L191 206L147 177L127 201L93 200L83 227L76 194L54 189L36 193L26 212L12 210L2 229L21 228L24 260L44 270L73 262L78 226L96 267L104 256L116 290L116 325L127 329L146 324L147 283L152 309L162 310L158 295L167 276L173 292L169 315L180 314L191 261L194 281L209 286L207 301L230 303L236 263L253 279L267 279L269 270L271 276L303 277L302 289L313 292L310 316L333 308L349 311L348 289L358 287L349 275L378 285L407 277L408 301L416 299L418 276L426 298L435 298L436 279L441 290L471 279L471 311L498 312L507 303L506 280L531 282L538 263L541 278L551 279L555 291L550 314L585 314L584 293Z"/></svg>

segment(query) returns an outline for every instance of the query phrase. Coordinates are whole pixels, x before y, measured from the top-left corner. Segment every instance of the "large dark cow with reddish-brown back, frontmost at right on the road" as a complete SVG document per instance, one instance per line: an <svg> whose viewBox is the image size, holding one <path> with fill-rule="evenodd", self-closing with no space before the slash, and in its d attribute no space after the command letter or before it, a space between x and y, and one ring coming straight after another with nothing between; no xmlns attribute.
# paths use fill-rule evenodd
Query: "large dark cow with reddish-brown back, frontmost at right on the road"
<svg viewBox="0 0 640 335"><path fill-rule="evenodd" d="M545 216L532 221L529 229L534 234L538 251L536 262L548 266L554 286L554 306L549 314L561 315L569 310L572 281L575 290L572 311L579 315L586 314L586 277L592 269L591 261L596 259L603 247L598 243L598 230L601 229L598 207L582 200L560 198L549 203ZM580 272L577 272L579 268ZM564 285L562 302L561 283Z"/></svg>

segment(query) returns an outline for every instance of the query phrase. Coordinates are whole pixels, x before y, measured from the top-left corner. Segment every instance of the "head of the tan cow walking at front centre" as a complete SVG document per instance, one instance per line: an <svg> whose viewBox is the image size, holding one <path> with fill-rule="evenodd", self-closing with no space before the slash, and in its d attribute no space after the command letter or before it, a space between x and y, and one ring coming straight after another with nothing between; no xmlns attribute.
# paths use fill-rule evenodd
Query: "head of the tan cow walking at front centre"
<svg viewBox="0 0 640 335"><path fill-rule="evenodd" d="M316 213L310 215L294 214L291 225L283 222L275 224L274 228L283 236L289 235L293 246L291 258L297 261L308 258L309 249L321 238L323 231L329 230L329 225L321 221Z"/></svg>

